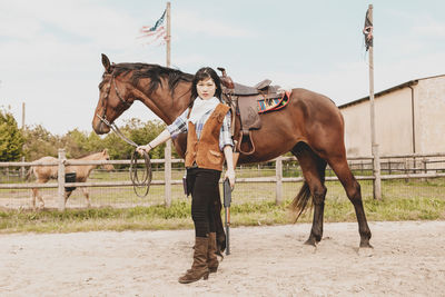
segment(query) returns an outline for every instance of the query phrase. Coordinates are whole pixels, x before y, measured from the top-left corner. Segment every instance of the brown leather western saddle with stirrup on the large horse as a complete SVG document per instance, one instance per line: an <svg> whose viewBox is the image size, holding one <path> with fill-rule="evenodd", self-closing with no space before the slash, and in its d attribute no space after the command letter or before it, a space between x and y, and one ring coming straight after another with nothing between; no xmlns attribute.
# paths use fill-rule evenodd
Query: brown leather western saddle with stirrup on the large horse
<svg viewBox="0 0 445 297"><path fill-rule="evenodd" d="M261 128L259 118L258 105L259 101L278 99L284 97L284 91L279 86L270 86L271 80L265 79L254 87L244 86L234 82L227 76L224 68L218 67L221 71L222 98L231 108L231 135L235 136L235 117L239 115L240 118L240 132L237 140L235 140L236 149L243 155L251 155L255 152L255 145L251 139L251 131ZM249 151L241 150L241 142L244 138L248 138L251 149Z"/></svg>

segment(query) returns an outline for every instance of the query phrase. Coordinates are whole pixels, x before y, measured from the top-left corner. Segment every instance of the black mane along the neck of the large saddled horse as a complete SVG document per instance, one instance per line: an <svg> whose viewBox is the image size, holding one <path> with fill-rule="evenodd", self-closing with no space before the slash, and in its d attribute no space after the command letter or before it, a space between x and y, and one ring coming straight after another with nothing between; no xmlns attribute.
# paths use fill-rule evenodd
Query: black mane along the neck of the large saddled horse
<svg viewBox="0 0 445 297"><path fill-rule="evenodd" d="M139 82L140 79L149 78L150 85L148 89L148 93L155 91L160 85L160 78L167 78L168 88L170 92L174 92L176 86L180 81L191 82L194 76L190 73L185 73L177 69L171 69L167 67L162 67L159 65L148 65L148 63L118 63L113 65L113 75L120 76L122 73L131 73L131 83L135 86Z"/></svg>

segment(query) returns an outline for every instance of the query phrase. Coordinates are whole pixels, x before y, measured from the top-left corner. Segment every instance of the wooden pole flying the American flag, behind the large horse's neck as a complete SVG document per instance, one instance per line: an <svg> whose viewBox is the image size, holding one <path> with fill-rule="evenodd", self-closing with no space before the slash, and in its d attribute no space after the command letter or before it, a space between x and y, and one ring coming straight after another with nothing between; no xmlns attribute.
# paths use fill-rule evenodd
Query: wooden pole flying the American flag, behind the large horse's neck
<svg viewBox="0 0 445 297"><path fill-rule="evenodd" d="M166 47L167 47L167 67L170 67L170 2L167 2L167 37L166 37ZM166 143L166 149L164 151L165 156L165 201L166 207L171 206L171 140L169 139Z"/></svg>

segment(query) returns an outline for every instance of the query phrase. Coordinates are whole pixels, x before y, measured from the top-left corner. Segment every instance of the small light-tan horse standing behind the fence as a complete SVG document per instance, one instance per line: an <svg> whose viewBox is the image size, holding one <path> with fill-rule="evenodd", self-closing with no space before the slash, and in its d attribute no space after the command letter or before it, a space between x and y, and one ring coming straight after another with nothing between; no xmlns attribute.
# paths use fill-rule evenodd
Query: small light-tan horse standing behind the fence
<svg viewBox="0 0 445 297"><path fill-rule="evenodd" d="M75 159L75 160L83 160L83 161L92 161L92 160L109 160L110 156L108 155L107 149L99 151L99 152L95 152L95 154L90 154L86 157L79 158L79 159ZM34 162L57 162L58 159L53 158L53 157L42 157L38 160L36 160ZM87 181L87 178L89 177L89 175L91 174L92 169L96 169L98 166L97 165L70 165L67 166L65 168L66 172L76 172L76 182L85 182ZM113 170L115 167L112 165L103 165L103 168L107 170ZM34 175L38 184L44 184L48 180L50 180L51 178L57 179L58 177L58 166L53 165L53 166L31 166L31 168L29 169L27 177L29 178L31 176L31 174ZM80 189L83 192L85 199L87 199L87 206L90 207L91 202L90 202L90 198L89 198L89 192L88 189L86 187L80 187ZM70 197L71 192L73 190L65 190L65 202L67 202L68 197ZM32 189L32 208L36 209L36 197L39 199L40 201L40 207L43 208L44 207L44 202L42 199L42 195L39 192L38 188L33 188Z"/></svg>

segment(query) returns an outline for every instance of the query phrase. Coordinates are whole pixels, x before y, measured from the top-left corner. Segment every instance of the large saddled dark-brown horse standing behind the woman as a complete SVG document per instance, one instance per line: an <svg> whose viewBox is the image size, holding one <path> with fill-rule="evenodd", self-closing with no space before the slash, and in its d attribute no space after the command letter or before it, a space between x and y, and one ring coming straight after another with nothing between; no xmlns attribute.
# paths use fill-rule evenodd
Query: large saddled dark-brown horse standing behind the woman
<svg viewBox="0 0 445 297"><path fill-rule="evenodd" d="M109 132L99 117L115 121L135 100L140 100L167 125L170 125L191 102L192 76L158 65L111 65L102 55L105 72L99 85L99 101L92 119L92 128L99 135ZM291 206L299 214L308 201L314 204L314 220L305 244L316 246L323 236L325 207L325 169L328 164L337 175L346 195L354 205L360 235L360 247L369 245L370 230L362 201L360 185L354 178L346 161L344 120L335 103L327 97L293 89L286 108L260 115L263 127L251 133L256 150L240 155L239 164L263 162L290 151L297 157L305 182ZM235 139L239 133L239 117L235 122ZM174 140L178 154L184 157L186 135ZM247 142L247 141L246 141ZM248 151L248 143L241 143ZM219 217L219 216L217 216ZM218 224L218 244L225 247L222 224Z"/></svg>

